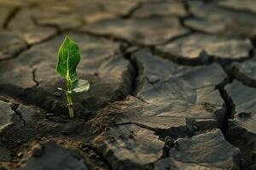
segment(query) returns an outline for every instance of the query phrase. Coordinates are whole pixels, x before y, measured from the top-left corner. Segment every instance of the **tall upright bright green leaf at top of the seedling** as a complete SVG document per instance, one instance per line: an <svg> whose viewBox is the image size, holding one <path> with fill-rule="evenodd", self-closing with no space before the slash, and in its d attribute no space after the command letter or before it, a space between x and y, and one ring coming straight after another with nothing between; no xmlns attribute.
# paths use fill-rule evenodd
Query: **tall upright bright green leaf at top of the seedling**
<svg viewBox="0 0 256 170"><path fill-rule="evenodd" d="M69 37L65 37L58 52L57 73L66 78L67 81L75 81L77 77L77 66L80 61L79 46Z"/></svg>

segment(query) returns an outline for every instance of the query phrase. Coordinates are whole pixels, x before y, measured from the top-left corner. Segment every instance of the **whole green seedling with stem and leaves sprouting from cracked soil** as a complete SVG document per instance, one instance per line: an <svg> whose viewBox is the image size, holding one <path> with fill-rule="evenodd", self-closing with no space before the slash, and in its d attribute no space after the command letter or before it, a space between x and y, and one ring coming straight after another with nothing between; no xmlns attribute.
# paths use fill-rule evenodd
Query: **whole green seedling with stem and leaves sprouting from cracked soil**
<svg viewBox="0 0 256 170"><path fill-rule="evenodd" d="M65 37L58 52L58 64L56 72L67 82L67 90L58 88L67 95L67 108L69 117L73 118L73 95L86 93L90 88L87 80L77 78L77 66L80 61L80 49L76 42Z"/></svg>

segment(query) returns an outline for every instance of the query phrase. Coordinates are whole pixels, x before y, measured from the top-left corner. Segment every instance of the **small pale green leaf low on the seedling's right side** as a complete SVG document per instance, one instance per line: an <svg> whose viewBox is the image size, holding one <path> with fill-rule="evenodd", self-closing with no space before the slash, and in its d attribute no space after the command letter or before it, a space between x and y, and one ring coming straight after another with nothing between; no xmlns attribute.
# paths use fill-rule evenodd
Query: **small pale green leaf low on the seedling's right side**
<svg viewBox="0 0 256 170"><path fill-rule="evenodd" d="M73 95L84 94L90 88L90 83L87 80L79 79L73 82Z"/></svg>

